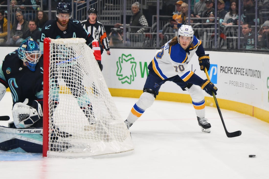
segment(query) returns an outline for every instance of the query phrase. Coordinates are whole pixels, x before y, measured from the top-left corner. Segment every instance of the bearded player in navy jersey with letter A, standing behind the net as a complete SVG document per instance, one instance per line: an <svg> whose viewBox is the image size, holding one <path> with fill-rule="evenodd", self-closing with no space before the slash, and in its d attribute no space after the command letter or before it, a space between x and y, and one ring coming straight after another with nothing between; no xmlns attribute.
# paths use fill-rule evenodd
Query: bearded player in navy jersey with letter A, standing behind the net
<svg viewBox="0 0 269 179"><path fill-rule="evenodd" d="M72 17L72 7L69 3L59 2L56 7L56 19L48 20L43 28L41 29L41 37L40 37L40 49L43 51L43 43L44 38L49 37L52 39L59 38L84 38L86 40L86 44L92 48L92 41L94 40L93 36L88 33L81 25L78 20L71 19ZM101 53L103 51L102 46L100 46ZM101 57L101 53L99 50L98 58ZM57 53L57 52L56 52ZM95 58L96 54L94 52ZM79 65L79 64L78 64ZM64 78L65 83L69 87L73 96L77 98L77 103L80 108L83 110L85 116L88 118L90 123L93 123L94 116L92 112L92 105L89 102L89 99L86 97L86 91L83 87L82 75L76 74L76 68L78 66L70 66L68 70L66 70L63 76L67 76ZM76 81L78 85L73 84L72 79L73 76L76 76ZM72 79L73 80L73 79ZM56 81L56 80L55 80Z"/></svg>

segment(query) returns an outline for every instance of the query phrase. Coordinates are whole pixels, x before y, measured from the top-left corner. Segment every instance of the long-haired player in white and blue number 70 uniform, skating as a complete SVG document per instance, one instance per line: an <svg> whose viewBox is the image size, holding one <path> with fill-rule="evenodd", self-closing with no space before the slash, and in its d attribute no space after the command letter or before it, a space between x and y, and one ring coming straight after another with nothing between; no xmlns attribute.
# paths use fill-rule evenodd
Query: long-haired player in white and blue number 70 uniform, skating
<svg viewBox="0 0 269 179"><path fill-rule="evenodd" d="M169 40L157 51L154 59L148 65L149 74L143 88L143 94L134 104L125 120L128 129L153 104L161 85L166 81L172 81L179 85L183 91L189 92L201 130L210 133L211 125L205 118L203 90L212 96L212 91L216 95L218 89L210 80L203 80L193 73L188 65L196 53L199 57L200 69L209 70L210 68L209 54L205 54L201 41L193 33L192 26L182 25L178 30L178 37Z"/></svg>

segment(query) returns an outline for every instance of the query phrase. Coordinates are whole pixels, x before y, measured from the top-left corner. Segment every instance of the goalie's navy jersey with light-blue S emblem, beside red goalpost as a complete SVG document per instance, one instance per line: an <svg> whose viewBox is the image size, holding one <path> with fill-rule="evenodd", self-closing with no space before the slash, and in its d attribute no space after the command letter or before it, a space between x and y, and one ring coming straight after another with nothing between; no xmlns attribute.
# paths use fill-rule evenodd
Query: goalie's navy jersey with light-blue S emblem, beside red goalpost
<svg viewBox="0 0 269 179"><path fill-rule="evenodd" d="M43 107L43 56L36 65L36 71L31 71L23 66L17 51L9 53L0 65L0 83L10 88L13 106L28 98L28 105L37 100Z"/></svg>

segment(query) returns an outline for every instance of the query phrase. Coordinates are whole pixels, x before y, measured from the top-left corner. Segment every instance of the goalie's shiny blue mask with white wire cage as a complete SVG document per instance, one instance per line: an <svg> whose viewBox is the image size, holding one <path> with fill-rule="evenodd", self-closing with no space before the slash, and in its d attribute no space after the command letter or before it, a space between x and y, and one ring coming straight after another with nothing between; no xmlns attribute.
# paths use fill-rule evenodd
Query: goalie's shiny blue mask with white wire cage
<svg viewBox="0 0 269 179"><path fill-rule="evenodd" d="M37 62L41 56L41 50L37 42L29 38L22 41L22 44L20 44L18 56L31 71L35 71Z"/></svg>

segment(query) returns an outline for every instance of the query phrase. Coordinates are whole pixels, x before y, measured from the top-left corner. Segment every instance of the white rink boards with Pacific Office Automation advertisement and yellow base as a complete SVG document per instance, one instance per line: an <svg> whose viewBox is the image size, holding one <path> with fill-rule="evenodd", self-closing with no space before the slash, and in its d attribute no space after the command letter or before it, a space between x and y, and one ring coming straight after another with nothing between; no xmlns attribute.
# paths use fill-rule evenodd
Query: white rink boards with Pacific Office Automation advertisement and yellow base
<svg viewBox="0 0 269 179"><path fill-rule="evenodd" d="M0 47L0 58L17 47ZM156 49L111 49L111 55L102 54L105 81L111 91L117 95L139 98L148 75L147 66L154 58ZM211 81L218 88L217 99L220 106L255 116L269 122L269 55L241 52L206 51L210 56ZM189 65L194 73L206 79L200 70L196 55ZM168 81L160 88L165 93L163 100L179 101L188 96L176 84ZM128 95L123 95L128 93ZM115 93L112 93L114 95ZM133 94L133 95L132 95ZM174 96L174 99L173 99ZM206 101L213 98L206 94ZM158 99L158 98L157 98ZM189 99L188 99L189 101ZM182 100L181 102L186 102Z"/></svg>

